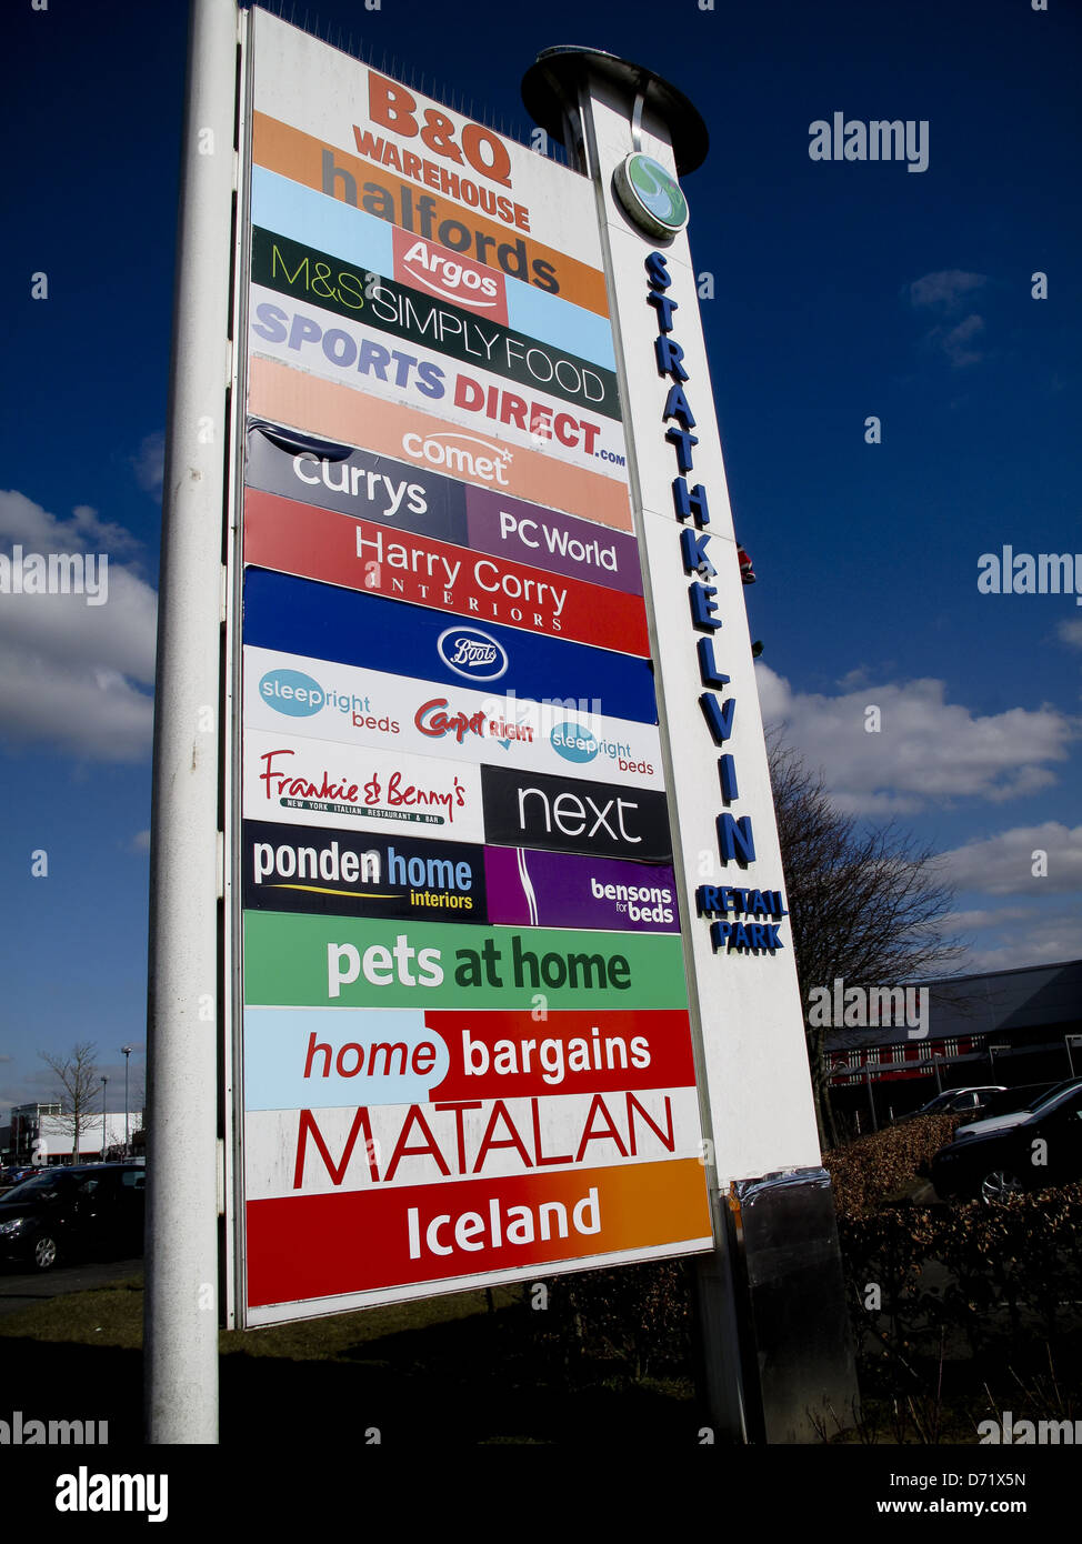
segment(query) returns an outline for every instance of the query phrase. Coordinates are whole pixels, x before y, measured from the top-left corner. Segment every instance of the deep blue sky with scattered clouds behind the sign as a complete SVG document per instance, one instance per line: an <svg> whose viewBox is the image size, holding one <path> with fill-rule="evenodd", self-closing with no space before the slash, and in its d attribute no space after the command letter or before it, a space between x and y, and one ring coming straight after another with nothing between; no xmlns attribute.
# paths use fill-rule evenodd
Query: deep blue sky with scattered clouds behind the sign
<svg viewBox="0 0 1082 1544"><path fill-rule="evenodd" d="M712 151L684 187L696 269L713 275L702 315L759 576L764 709L840 803L946 854L969 968L1077 957L1082 607L980 594L977 559L1082 553L1079 11L551 0L514 26L503 0L306 12L519 137L519 82L554 43L647 63L699 107ZM119 1047L145 1039L185 26L174 0L5 19L0 553L108 553L110 590L99 607L0 594L0 1121L52 1093L37 1051L77 1039L97 1041L119 1109ZM809 125L835 111L926 120L928 168L812 161ZM48 298L31 298L36 273ZM134 1095L142 1051L131 1073Z"/></svg>

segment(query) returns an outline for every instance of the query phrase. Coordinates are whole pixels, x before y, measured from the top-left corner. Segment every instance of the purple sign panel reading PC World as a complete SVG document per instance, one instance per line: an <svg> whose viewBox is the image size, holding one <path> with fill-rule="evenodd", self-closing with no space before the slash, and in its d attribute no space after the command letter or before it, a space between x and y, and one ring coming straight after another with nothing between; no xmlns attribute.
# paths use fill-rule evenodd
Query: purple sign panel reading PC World
<svg viewBox="0 0 1082 1544"><path fill-rule="evenodd" d="M469 545L517 564L642 594L639 548L633 536L573 514L542 510L488 488L466 489Z"/></svg>

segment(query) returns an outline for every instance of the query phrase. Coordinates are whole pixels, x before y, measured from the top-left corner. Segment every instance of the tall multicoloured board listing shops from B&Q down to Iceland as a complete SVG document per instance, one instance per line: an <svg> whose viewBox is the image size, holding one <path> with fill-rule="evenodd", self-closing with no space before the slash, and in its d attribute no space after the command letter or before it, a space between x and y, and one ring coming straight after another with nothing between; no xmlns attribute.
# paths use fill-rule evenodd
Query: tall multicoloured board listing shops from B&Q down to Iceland
<svg viewBox="0 0 1082 1544"><path fill-rule="evenodd" d="M250 26L235 1319L710 1251L594 188Z"/></svg>

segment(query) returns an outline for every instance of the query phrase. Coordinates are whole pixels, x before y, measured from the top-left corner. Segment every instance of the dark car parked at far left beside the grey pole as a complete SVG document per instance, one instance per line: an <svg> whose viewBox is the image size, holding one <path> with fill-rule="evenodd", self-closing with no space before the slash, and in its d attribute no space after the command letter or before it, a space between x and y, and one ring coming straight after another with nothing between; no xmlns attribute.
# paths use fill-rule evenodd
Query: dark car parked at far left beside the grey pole
<svg viewBox="0 0 1082 1544"><path fill-rule="evenodd" d="M49 1271L59 1260L142 1254L147 1169L133 1163L40 1169L0 1195L0 1258Z"/></svg>

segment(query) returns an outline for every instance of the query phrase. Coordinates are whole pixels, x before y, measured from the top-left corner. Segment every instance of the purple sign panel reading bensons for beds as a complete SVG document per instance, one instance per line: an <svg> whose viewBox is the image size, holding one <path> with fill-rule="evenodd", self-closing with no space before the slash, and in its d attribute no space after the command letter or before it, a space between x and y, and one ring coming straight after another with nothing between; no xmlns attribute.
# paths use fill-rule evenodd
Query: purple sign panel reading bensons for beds
<svg viewBox="0 0 1082 1544"><path fill-rule="evenodd" d="M671 868L571 852L485 848L489 920L499 926L679 933Z"/></svg>

